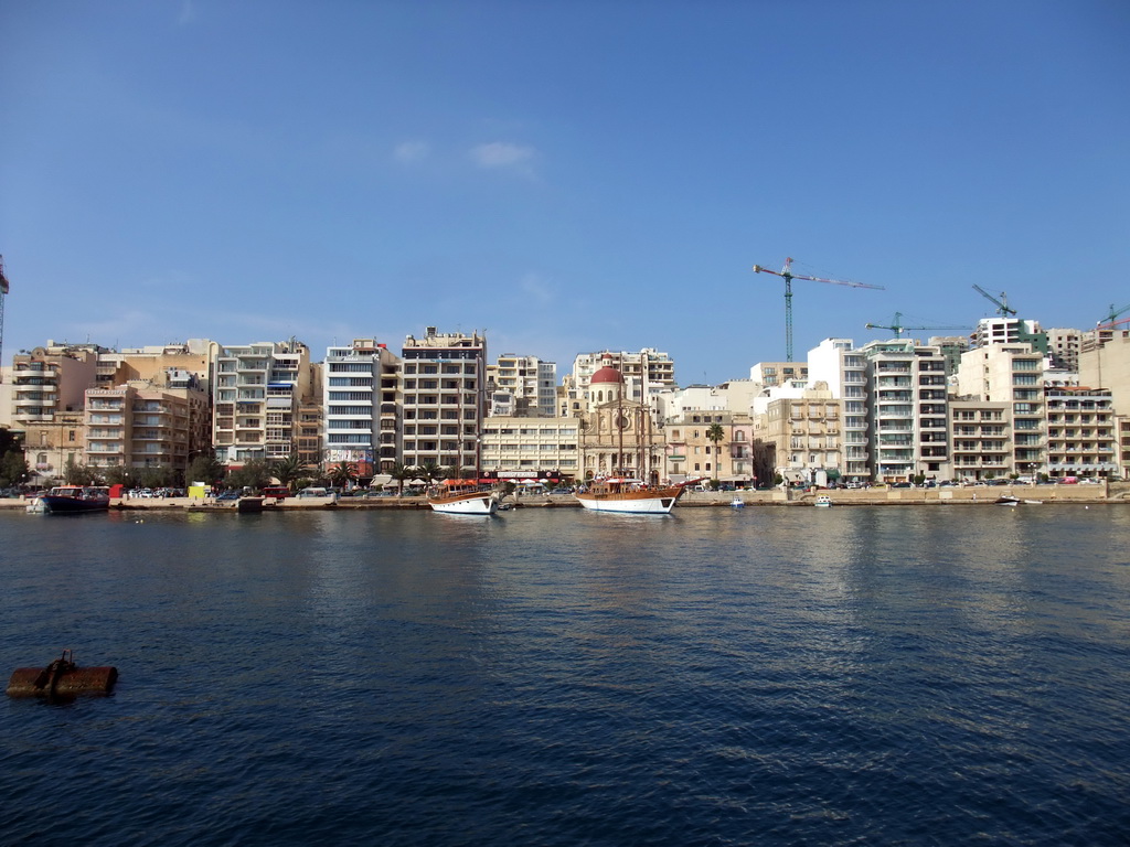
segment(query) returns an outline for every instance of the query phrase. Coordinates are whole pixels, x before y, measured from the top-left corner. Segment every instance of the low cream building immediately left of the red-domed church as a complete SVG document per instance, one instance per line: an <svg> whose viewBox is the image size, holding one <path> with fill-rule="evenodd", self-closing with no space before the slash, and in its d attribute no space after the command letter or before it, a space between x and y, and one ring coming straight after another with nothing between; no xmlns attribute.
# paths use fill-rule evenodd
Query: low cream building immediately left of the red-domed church
<svg viewBox="0 0 1130 847"><path fill-rule="evenodd" d="M575 478L580 435L576 418L492 416L483 427L479 468L496 479Z"/></svg>

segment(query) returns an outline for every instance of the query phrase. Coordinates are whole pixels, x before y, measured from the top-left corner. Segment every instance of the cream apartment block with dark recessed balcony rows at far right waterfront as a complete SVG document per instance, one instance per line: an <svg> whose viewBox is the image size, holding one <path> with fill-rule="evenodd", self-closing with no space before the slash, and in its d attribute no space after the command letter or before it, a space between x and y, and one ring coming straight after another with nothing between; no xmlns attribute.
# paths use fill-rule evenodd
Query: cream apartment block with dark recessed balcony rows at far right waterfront
<svg viewBox="0 0 1130 847"><path fill-rule="evenodd" d="M1111 392L1048 387L1048 473L1109 478L1120 474L1119 436Z"/></svg>

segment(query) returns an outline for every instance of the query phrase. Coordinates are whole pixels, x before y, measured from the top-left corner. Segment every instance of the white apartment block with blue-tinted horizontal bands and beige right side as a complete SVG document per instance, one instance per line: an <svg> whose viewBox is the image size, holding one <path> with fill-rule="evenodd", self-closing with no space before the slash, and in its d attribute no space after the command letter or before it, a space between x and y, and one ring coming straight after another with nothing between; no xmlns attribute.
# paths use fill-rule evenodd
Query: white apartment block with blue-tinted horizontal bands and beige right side
<svg viewBox="0 0 1130 847"><path fill-rule="evenodd" d="M325 351L322 422L324 461L351 463L360 477L397 461L399 360L375 339Z"/></svg>

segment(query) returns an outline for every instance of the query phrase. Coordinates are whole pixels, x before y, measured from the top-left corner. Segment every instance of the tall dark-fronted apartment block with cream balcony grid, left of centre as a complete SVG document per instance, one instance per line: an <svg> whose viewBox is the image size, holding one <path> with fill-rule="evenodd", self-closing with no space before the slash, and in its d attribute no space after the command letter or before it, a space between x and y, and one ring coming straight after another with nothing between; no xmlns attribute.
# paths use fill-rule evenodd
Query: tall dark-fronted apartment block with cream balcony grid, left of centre
<svg viewBox="0 0 1130 847"><path fill-rule="evenodd" d="M486 411L485 335L425 329L400 353L401 462L473 470Z"/></svg>

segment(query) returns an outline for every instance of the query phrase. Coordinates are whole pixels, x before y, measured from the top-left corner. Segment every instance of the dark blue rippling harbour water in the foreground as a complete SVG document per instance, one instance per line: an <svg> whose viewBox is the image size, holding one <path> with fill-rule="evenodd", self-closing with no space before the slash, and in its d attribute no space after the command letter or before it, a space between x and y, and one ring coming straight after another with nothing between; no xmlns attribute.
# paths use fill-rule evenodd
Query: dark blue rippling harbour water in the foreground
<svg viewBox="0 0 1130 847"><path fill-rule="evenodd" d="M1130 512L0 514L0 844L1115 845ZM7 670L3 670L7 669Z"/></svg>

